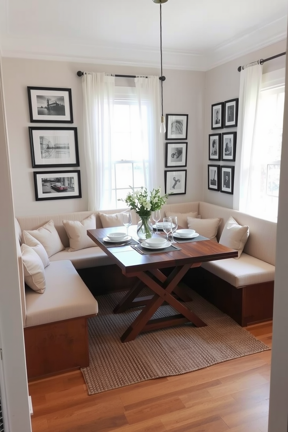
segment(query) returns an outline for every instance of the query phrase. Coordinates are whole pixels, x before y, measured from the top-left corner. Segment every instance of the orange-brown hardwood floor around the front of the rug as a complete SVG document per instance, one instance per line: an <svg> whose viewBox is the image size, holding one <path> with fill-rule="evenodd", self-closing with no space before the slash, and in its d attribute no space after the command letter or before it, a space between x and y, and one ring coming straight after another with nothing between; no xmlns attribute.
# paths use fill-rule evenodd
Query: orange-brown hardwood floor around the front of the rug
<svg viewBox="0 0 288 432"><path fill-rule="evenodd" d="M272 344L272 322L247 327ZM88 396L80 371L29 383L33 432L267 432L271 351Z"/></svg>

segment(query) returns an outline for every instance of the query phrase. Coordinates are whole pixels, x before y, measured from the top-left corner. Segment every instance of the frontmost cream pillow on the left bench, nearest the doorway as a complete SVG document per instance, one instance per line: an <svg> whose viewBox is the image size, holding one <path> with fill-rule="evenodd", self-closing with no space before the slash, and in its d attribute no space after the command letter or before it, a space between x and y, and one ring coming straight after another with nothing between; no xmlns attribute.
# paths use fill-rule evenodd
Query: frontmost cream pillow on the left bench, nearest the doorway
<svg viewBox="0 0 288 432"><path fill-rule="evenodd" d="M43 294L46 288L45 270L39 255L30 246L21 245L24 281L34 291Z"/></svg>

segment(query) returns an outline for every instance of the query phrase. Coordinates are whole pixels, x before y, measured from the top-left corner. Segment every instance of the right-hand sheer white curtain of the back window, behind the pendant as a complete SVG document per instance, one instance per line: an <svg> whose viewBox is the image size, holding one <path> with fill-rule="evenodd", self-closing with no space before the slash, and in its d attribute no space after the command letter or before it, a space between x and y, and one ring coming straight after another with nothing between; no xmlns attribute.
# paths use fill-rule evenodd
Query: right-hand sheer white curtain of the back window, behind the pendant
<svg viewBox="0 0 288 432"><path fill-rule="evenodd" d="M135 78L136 95L138 98L139 118L141 127L141 146L148 146L148 167L147 162L143 159L143 168L145 173L145 186L149 191L154 187L161 187L164 194L164 144L163 137L160 133L160 85L158 76L136 77ZM142 118L144 110L143 105L147 107L147 123ZM148 125L148 130L143 125Z"/></svg>

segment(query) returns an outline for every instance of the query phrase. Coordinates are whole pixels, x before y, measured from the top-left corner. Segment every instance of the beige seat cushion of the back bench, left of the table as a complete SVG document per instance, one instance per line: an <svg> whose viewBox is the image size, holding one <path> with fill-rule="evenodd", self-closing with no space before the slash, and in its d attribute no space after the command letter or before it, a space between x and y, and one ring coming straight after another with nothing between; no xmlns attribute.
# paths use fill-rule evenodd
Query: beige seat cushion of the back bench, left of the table
<svg viewBox="0 0 288 432"><path fill-rule="evenodd" d="M99 246L80 249L79 251L73 252L68 252L68 249L69 248L65 248L64 251L52 255L50 261L70 260L77 270L114 264L111 258L108 257L108 255L105 254Z"/></svg>

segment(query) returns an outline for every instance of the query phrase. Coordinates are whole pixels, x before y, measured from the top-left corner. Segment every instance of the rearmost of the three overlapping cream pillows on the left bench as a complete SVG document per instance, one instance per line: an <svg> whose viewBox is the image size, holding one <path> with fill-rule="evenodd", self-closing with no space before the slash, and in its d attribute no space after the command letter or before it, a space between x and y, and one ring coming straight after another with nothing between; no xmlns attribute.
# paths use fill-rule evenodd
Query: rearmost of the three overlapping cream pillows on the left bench
<svg viewBox="0 0 288 432"><path fill-rule="evenodd" d="M51 257L51 255L57 254L57 252L63 251L63 249L65 249L62 245L52 219L38 229L34 229L32 231L23 231L22 240L27 244L26 232L32 235L32 237L35 237L36 240L40 241L41 245L44 246L48 257Z"/></svg>

